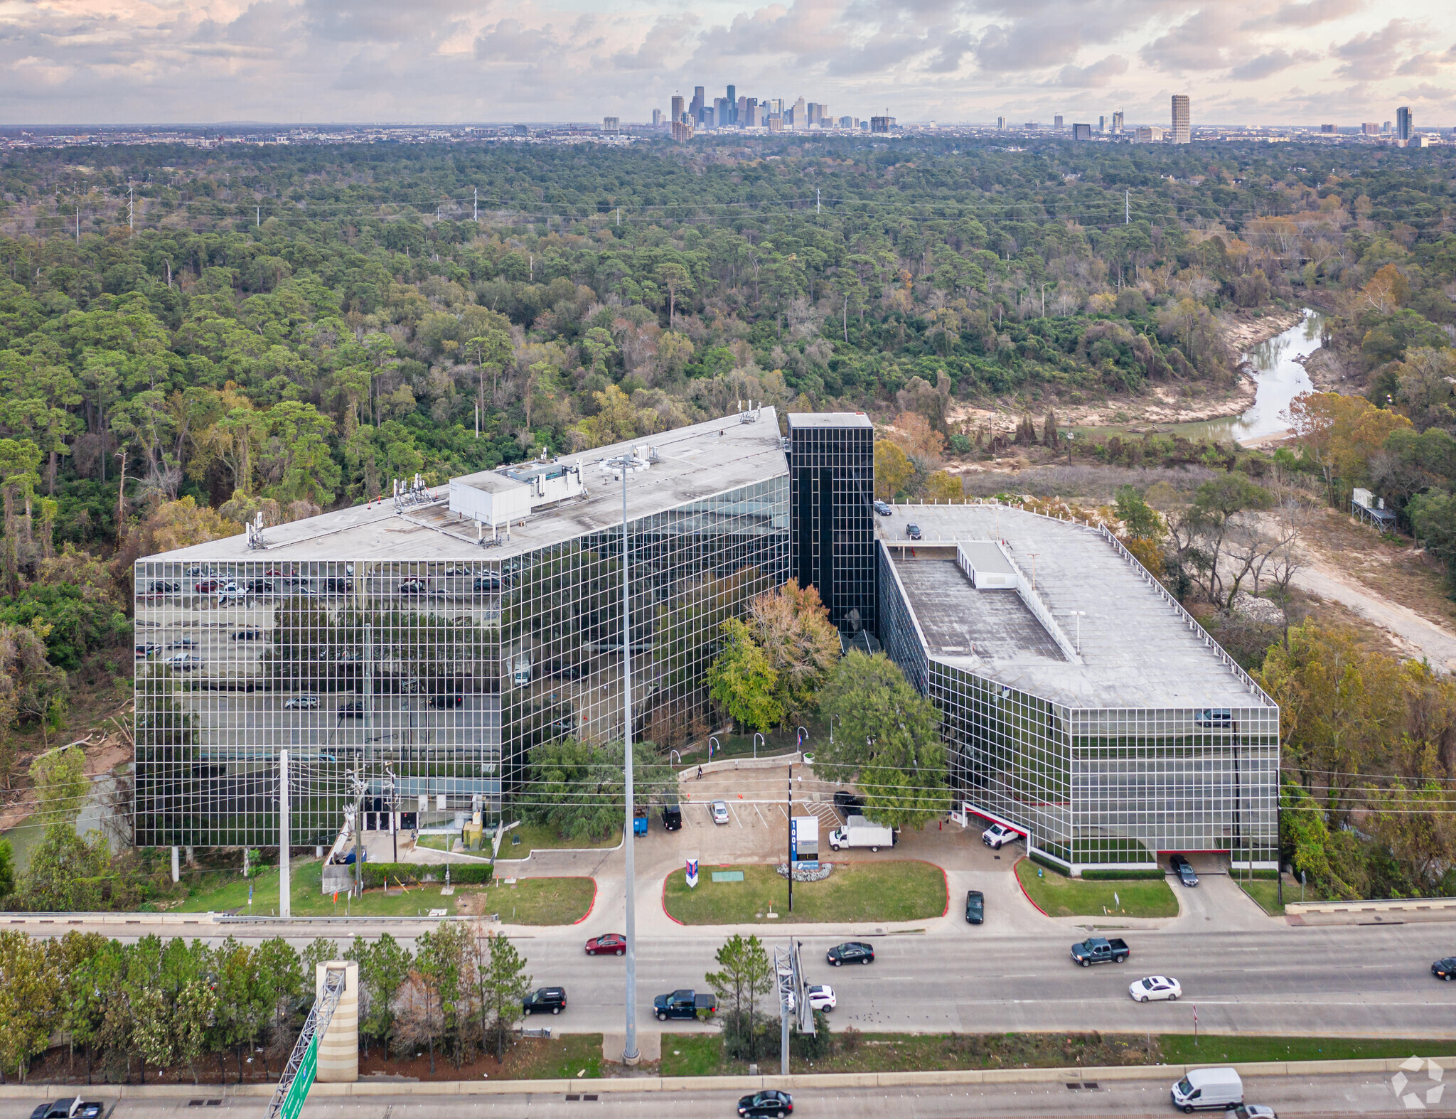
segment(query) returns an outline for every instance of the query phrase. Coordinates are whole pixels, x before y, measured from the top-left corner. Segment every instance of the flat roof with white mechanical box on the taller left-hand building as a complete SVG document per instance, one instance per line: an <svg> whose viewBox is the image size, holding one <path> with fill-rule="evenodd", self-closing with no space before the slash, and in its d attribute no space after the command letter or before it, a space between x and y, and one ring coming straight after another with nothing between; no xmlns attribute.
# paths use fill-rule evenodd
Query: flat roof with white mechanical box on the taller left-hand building
<svg viewBox="0 0 1456 1119"><path fill-rule="evenodd" d="M744 416L754 416L745 422ZM355 505L303 521L265 528L265 549L248 547L246 535L194 544L150 562L226 560L499 560L539 547L622 524L622 482L600 463L636 451L642 466L628 471L628 517L638 519L664 512L715 493L788 474L788 458L773 407L695 423L687 428L646 435L629 442L597 447L562 455L561 463L579 466L585 482L581 496L533 509L501 530L502 543L482 549L476 524L450 512L447 485L422 493L422 499L396 508L390 498ZM501 467L517 476L531 471L530 463ZM502 492L518 482L502 473L464 476L473 489ZM496 480L499 479L499 480ZM505 534L510 538L505 540ZM491 530L485 528L489 537Z"/></svg>

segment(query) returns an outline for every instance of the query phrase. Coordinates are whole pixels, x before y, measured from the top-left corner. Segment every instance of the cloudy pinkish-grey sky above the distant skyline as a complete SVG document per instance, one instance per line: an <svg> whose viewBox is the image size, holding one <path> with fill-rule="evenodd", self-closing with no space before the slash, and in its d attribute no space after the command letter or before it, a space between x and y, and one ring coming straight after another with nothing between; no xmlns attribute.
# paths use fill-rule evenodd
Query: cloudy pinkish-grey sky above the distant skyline
<svg viewBox="0 0 1456 1119"><path fill-rule="evenodd" d="M693 86L901 121L1456 125L1450 0L0 0L0 122L649 119Z"/></svg>

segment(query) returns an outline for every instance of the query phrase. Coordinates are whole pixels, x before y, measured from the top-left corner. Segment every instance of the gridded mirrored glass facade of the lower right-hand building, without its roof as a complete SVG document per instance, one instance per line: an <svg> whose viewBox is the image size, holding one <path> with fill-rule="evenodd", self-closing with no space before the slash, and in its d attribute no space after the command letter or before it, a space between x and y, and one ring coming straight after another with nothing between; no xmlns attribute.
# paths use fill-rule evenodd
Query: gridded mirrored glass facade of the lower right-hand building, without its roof
<svg viewBox="0 0 1456 1119"><path fill-rule="evenodd" d="M942 713L958 805L1076 872L1159 851L1277 866L1278 707L1262 693L1245 707L1056 703L930 655L888 550L879 579L881 639Z"/></svg>

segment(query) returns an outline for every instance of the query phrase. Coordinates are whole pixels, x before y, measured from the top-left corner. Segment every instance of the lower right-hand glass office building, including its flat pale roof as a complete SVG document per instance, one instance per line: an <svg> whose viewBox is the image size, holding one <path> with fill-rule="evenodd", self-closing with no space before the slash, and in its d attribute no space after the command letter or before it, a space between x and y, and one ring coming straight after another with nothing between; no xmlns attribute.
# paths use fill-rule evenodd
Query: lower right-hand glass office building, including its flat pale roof
<svg viewBox="0 0 1456 1119"><path fill-rule="evenodd" d="M1073 873L1277 866L1278 707L1114 538L993 505L895 512L881 639L941 709L958 811Z"/></svg>

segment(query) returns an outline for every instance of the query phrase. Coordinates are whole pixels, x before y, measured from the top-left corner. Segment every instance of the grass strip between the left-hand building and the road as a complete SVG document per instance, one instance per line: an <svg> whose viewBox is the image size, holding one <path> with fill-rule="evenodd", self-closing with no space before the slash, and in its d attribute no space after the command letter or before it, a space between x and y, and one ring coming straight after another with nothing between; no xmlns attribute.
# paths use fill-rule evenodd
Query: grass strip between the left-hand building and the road
<svg viewBox="0 0 1456 1119"><path fill-rule="evenodd" d="M521 879L515 886L456 886L453 896L440 893L441 883L365 891L363 898L339 898L320 891L323 863L310 860L293 867L291 893L294 917L422 917L431 909L453 912L499 912L502 921L510 921L511 912L518 924L572 924L587 914L596 896L596 883L590 877L534 877ZM253 888L253 905L248 907L248 886ZM408 883L406 883L408 885ZM221 885L199 889L178 905L172 912L224 912L239 909L245 914L269 917L278 912L278 867L266 867L252 879L233 877Z"/></svg>

